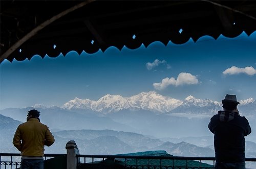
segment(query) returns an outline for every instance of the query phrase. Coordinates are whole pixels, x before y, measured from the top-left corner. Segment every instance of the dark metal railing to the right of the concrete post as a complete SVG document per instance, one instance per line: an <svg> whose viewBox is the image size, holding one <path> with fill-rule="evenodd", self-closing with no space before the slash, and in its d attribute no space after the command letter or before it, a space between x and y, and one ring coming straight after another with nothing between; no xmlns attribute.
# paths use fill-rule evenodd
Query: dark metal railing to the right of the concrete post
<svg viewBox="0 0 256 169"><path fill-rule="evenodd" d="M147 169L210 169L215 168L215 157L131 156L131 155L76 155L80 168L147 168ZM83 159L83 160L82 160ZM256 158L246 158L254 162Z"/></svg>

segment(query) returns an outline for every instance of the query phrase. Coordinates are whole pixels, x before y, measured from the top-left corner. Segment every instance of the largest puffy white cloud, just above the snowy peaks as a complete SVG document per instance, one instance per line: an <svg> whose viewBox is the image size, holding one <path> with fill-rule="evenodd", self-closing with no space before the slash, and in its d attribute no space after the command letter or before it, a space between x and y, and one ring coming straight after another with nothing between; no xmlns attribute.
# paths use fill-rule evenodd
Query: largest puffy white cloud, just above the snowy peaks
<svg viewBox="0 0 256 169"><path fill-rule="evenodd" d="M198 84L198 79L196 76L189 73L180 73L177 80L175 78L164 78L162 82L153 83L153 86L157 90L162 90L169 85L181 86L181 85L191 85Z"/></svg>

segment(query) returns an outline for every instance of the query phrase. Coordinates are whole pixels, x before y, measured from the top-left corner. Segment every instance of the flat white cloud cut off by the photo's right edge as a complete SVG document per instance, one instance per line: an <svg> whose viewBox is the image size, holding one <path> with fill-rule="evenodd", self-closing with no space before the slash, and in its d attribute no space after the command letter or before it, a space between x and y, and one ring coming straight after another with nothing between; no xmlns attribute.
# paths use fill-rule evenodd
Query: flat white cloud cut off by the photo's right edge
<svg viewBox="0 0 256 169"><path fill-rule="evenodd" d="M232 66L228 69L226 69L225 71L223 71L224 75L236 75L236 74L247 74L247 75L255 75L256 74L256 69L254 69L252 66L247 66L245 68L240 68L240 67L236 67L236 66Z"/></svg>

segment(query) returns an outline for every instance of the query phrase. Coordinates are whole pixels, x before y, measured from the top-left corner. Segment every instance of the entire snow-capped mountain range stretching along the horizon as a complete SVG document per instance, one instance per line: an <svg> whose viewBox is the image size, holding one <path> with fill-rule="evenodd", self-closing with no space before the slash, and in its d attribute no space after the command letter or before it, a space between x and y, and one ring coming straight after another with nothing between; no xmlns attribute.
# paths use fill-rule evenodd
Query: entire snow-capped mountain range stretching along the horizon
<svg viewBox="0 0 256 169"><path fill-rule="evenodd" d="M247 100L240 101L240 106L256 104L255 100L249 98ZM55 108L56 106L46 107L44 105L35 105L35 108ZM163 96L155 91L141 92L137 95L133 95L130 98L124 98L121 95L107 94L100 98L98 101L92 101L90 99L78 99L75 98L65 103L61 108L64 109L86 109L95 112L101 112L103 114L109 114L118 112L120 110L148 110L157 114L162 113L193 113L193 108L204 109L206 112L216 112L217 109L221 109L221 103L211 101L209 99L196 99L189 95L184 101ZM185 111L184 111L185 110ZM201 111L202 113L202 111Z"/></svg>

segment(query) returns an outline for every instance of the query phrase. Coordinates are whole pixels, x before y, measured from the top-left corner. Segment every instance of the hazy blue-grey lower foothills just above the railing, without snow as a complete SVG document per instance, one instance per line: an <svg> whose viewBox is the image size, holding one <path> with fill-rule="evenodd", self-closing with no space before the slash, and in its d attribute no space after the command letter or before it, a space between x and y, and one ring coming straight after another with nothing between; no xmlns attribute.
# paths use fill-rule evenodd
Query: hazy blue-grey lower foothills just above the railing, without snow
<svg viewBox="0 0 256 169"><path fill-rule="evenodd" d="M0 151L2 153L18 153L12 145L12 137L18 124L22 123L13 118L0 115L0 122L9 124L8 128L4 123L0 123L0 132L4 134L4 139L0 139ZM124 132L114 130L62 130L52 132L55 143L51 147L46 147L45 153L66 153L65 145L69 140L75 140L81 154L123 154L134 152L145 152L154 150L165 150L175 156L214 156L212 148L213 136L193 137L193 138L151 138L136 132ZM198 146L199 142L205 139L205 146ZM209 140L208 140L209 139ZM176 140L175 143L168 140ZM186 141L184 141L186 140ZM191 141L198 140L196 143ZM208 141L207 141L208 140ZM255 158L256 143L246 140L246 157Z"/></svg>

